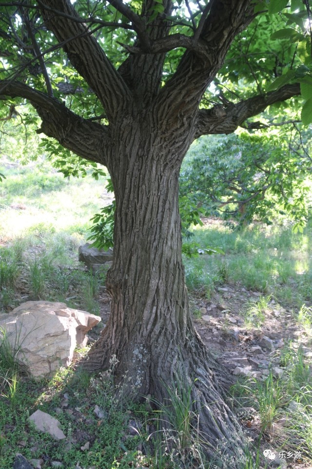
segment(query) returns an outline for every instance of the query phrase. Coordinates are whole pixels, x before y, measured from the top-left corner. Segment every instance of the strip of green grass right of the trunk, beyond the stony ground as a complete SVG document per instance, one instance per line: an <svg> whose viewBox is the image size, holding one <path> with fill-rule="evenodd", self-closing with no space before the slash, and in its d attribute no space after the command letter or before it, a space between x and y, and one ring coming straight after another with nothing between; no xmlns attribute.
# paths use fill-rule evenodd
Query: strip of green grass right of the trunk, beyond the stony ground
<svg viewBox="0 0 312 469"><path fill-rule="evenodd" d="M192 241L221 248L225 255L185 258L189 290L211 298L224 283L272 295L300 308L312 301L312 222L303 234L292 227L251 226L233 231L222 223L195 227Z"/></svg>

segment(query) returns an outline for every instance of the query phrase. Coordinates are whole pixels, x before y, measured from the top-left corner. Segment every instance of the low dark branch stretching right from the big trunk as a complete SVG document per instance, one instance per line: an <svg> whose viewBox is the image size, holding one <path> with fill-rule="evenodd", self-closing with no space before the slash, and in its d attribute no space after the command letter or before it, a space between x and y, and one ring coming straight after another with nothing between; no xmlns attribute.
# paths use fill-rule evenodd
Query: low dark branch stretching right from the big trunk
<svg viewBox="0 0 312 469"><path fill-rule="evenodd" d="M254 96L228 107L214 106L210 109L199 109L194 138L212 133L232 133L246 119L263 112L271 104L286 101L292 96L298 95L300 95L300 85L295 83L294 85L284 85L270 93Z"/></svg>

